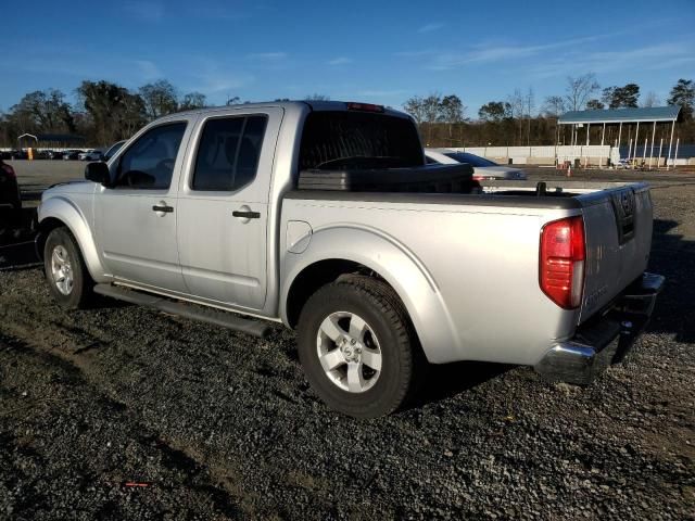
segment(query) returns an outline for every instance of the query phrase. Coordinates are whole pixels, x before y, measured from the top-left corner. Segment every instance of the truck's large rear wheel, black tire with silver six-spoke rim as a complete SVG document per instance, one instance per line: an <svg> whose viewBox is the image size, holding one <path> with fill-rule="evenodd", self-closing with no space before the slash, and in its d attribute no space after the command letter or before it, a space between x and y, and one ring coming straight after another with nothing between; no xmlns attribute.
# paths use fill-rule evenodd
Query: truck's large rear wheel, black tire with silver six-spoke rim
<svg viewBox="0 0 695 521"><path fill-rule="evenodd" d="M348 276L323 287L304 305L298 330L309 384L348 416L393 412L414 396L427 369L401 300L370 277Z"/></svg>

